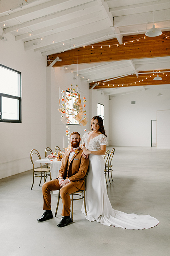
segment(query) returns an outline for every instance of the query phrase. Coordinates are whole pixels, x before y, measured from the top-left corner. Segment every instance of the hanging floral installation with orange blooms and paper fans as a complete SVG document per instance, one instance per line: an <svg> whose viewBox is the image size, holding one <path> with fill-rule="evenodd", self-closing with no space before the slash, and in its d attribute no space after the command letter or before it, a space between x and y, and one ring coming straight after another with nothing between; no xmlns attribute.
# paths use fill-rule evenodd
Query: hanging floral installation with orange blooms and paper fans
<svg viewBox="0 0 170 256"><path fill-rule="evenodd" d="M75 120L80 126L86 126L87 117L86 117L86 98L82 96L82 93L78 91L78 85L76 85L77 90L73 88L73 85L70 85L66 91L61 91L59 87L59 107L58 111L61 112L61 122L66 124L66 136L68 136L68 144L70 143L70 117ZM81 103L81 98L83 101L83 106ZM86 130L86 129L84 129Z"/></svg>

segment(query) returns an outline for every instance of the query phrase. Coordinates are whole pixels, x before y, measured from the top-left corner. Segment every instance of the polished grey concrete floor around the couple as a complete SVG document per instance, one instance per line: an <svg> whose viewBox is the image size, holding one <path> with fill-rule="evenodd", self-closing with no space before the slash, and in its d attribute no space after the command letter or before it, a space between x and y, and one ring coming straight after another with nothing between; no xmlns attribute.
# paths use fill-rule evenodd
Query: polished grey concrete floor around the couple
<svg viewBox="0 0 170 256"><path fill-rule="evenodd" d="M108 147L111 148L111 147ZM39 223L43 213L39 178L33 190L32 171L0 180L1 256L169 256L170 150L115 147L113 180L108 195L114 209L150 214L159 225L126 230L89 222L74 203L74 223L58 228L58 216ZM55 213L57 196L52 194Z"/></svg>

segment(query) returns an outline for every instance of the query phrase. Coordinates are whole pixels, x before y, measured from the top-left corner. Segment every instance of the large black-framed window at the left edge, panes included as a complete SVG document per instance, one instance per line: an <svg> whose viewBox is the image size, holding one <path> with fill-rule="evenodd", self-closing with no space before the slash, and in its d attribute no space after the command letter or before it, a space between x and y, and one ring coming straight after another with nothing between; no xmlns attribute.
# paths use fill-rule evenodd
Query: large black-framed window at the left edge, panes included
<svg viewBox="0 0 170 256"><path fill-rule="evenodd" d="M21 72L0 65L0 122L21 123Z"/></svg>

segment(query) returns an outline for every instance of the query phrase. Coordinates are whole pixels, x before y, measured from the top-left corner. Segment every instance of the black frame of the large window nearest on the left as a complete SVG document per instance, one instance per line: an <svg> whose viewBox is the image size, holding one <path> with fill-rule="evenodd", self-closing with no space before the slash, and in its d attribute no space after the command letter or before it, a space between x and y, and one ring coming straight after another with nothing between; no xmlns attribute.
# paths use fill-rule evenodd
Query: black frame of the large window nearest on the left
<svg viewBox="0 0 170 256"><path fill-rule="evenodd" d="M9 68L7 66L4 66L2 64L0 64L0 66L2 68L6 68L8 70L11 70L13 72L18 73L19 75L19 86L20 86L20 96L13 96L10 94L3 94L0 92L0 122L1 123L21 123L21 72L17 71L15 69ZM13 98L18 100L18 120L16 119L2 119L2 97L6 97L6 98Z"/></svg>

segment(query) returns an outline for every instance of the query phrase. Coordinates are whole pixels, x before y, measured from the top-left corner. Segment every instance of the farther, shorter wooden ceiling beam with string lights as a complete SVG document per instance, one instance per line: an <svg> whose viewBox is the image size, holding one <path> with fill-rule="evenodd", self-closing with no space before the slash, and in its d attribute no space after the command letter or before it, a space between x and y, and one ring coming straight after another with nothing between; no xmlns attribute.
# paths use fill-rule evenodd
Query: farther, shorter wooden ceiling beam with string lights
<svg viewBox="0 0 170 256"><path fill-rule="evenodd" d="M110 88L117 88L117 87L129 87L129 86L170 84L170 69L165 69L160 71L161 72L160 73L158 72L158 75L162 78L162 80L158 80L158 81L153 80L157 76L157 72L155 70L154 70L154 73L153 73L153 70L140 71L140 74L138 74L138 77L136 76L136 74L133 74L133 75L124 76L118 79L114 78L114 80L109 79L109 81L91 82L89 89L91 89L96 82L97 82L97 85L94 87L94 90L110 89Z"/></svg>

